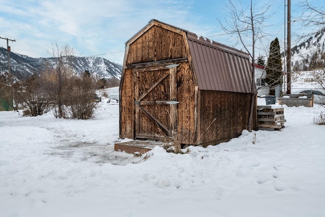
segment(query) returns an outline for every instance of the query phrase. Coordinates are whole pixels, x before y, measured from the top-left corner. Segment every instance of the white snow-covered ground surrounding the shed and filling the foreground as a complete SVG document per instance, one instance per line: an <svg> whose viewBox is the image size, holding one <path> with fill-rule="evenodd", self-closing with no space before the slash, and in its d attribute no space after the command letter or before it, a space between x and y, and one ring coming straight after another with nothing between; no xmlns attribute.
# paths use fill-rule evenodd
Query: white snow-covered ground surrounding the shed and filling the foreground
<svg viewBox="0 0 325 217"><path fill-rule="evenodd" d="M281 131L141 158L113 151L119 108L105 99L91 120L2 111L0 216L325 216L321 108L284 107Z"/></svg>

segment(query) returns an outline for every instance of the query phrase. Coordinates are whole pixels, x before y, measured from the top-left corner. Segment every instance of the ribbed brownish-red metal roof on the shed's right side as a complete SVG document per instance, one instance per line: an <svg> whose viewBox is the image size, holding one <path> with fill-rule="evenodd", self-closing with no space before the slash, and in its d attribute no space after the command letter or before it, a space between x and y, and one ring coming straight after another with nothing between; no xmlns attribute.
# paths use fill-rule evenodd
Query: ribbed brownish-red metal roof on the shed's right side
<svg viewBox="0 0 325 217"><path fill-rule="evenodd" d="M187 32L189 50L199 89L251 92L249 55Z"/></svg>

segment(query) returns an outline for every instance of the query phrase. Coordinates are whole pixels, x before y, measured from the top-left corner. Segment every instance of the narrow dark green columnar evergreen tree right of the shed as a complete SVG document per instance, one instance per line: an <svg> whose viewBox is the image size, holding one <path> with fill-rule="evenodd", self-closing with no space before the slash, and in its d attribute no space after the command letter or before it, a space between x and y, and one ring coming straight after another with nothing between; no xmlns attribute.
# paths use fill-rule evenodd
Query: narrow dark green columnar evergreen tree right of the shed
<svg viewBox="0 0 325 217"><path fill-rule="evenodd" d="M270 88L270 95L275 95L275 87L282 83L282 63L278 38L275 38L270 44L266 75L266 82Z"/></svg>

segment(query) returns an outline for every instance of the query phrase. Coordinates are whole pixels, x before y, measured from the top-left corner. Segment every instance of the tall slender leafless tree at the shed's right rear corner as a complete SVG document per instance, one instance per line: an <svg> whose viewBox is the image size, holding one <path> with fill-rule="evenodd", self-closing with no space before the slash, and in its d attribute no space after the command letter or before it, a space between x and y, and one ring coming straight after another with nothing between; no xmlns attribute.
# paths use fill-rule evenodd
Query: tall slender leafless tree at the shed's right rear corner
<svg viewBox="0 0 325 217"><path fill-rule="evenodd" d="M250 7L244 9L241 4L234 4L229 0L229 5L226 6L226 13L229 19L225 20L223 24L220 20L220 25L225 33L236 36L237 44L241 44L245 51L249 54L252 63L252 82L251 82L251 106L249 118L247 123L248 131L251 131L252 118L254 112L254 102L256 98L256 85L255 85L255 46L257 42L263 44L262 39L266 37L263 31L265 21L269 19L272 14L267 15L271 8L271 3L263 5L263 7L256 9L252 0Z"/></svg>

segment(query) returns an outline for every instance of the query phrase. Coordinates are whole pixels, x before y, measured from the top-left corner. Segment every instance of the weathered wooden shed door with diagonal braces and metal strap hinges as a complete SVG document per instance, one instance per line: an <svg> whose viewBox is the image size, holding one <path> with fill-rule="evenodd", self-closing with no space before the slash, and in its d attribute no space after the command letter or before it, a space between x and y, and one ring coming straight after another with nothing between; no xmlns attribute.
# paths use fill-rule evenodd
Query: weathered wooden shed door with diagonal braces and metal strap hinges
<svg viewBox="0 0 325 217"><path fill-rule="evenodd" d="M161 139L176 133L177 66L135 70L136 138Z"/></svg>

